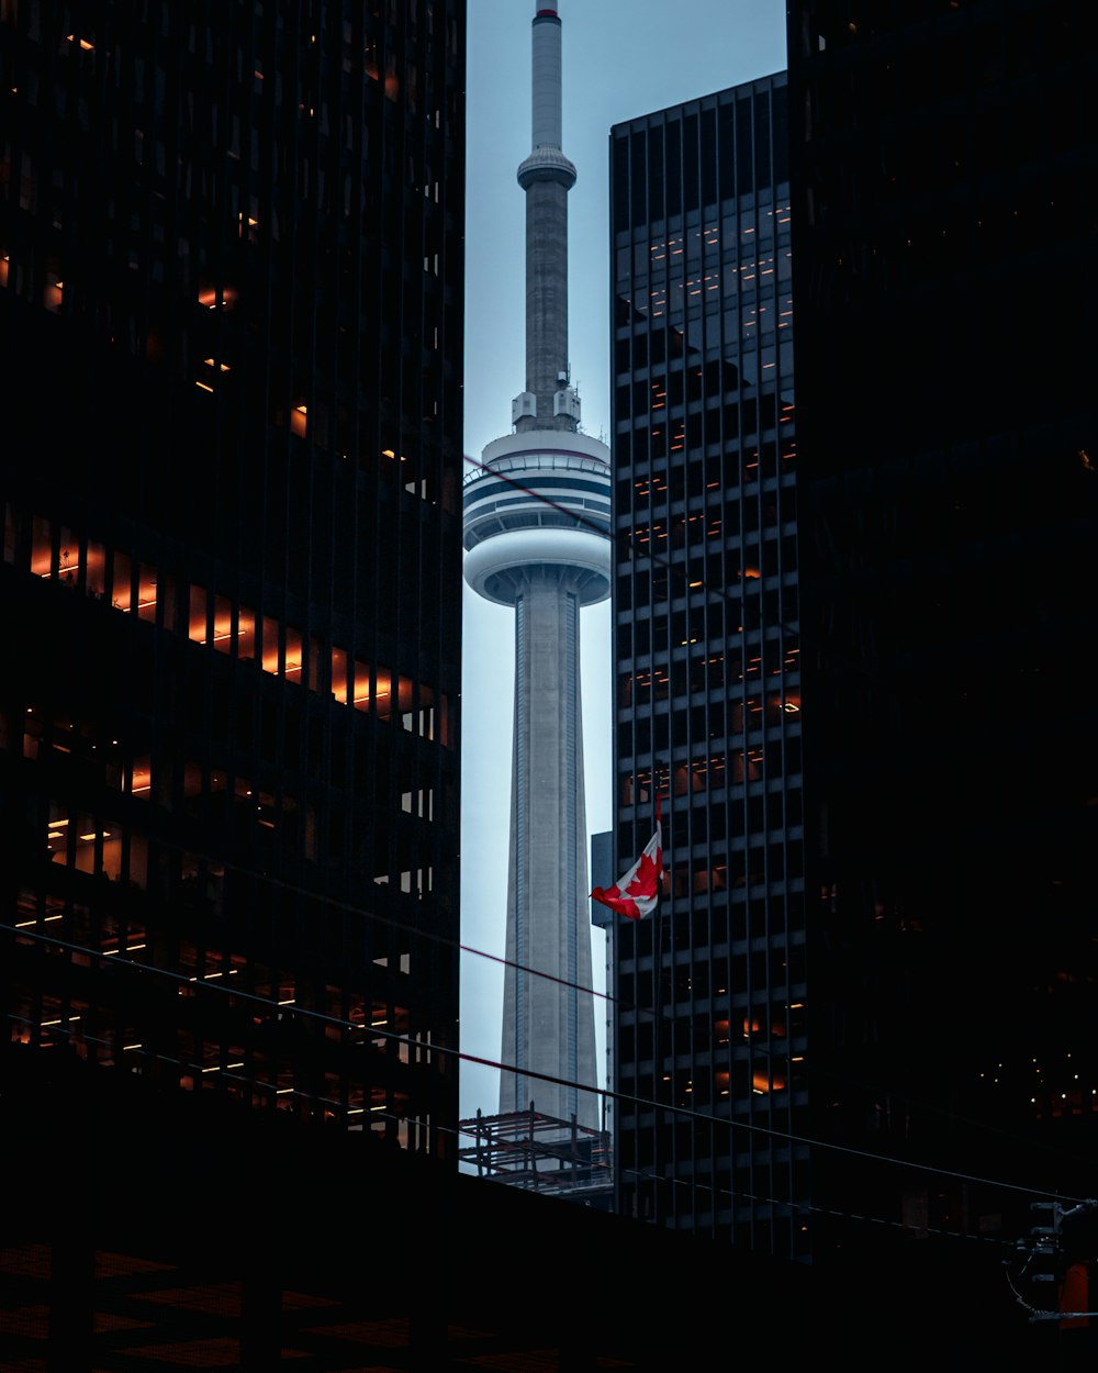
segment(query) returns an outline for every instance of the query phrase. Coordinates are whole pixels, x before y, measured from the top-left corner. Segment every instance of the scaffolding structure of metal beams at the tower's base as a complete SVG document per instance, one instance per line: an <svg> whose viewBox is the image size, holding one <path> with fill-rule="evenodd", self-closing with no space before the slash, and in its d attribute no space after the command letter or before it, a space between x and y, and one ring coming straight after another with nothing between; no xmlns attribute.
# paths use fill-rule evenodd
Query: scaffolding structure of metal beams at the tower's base
<svg viewBox="0 0 1098 1373"><path fill-rule="evenodd" d="M609 1133L528 1111L476 1115L460 1123L458 1160L476 1177L505 1182L586 1205L608 1208L614 1200Z"/></svg>

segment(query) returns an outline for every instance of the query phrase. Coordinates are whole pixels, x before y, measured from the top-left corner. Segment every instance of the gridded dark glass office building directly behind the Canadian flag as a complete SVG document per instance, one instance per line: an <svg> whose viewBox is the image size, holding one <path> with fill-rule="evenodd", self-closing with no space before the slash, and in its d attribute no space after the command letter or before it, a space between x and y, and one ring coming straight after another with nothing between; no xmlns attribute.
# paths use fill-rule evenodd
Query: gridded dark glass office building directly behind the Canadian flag
<svg viewBox="0 0 1098 1373"><path fill-rule="evenodd" d="M785 77L612 132L619 1205L807 1252ZM631 1097L640 1104L633 1104ZM656 1103L655 1107L651 1103ZM773 1134L770 1131L774 1131Z"/></svg>

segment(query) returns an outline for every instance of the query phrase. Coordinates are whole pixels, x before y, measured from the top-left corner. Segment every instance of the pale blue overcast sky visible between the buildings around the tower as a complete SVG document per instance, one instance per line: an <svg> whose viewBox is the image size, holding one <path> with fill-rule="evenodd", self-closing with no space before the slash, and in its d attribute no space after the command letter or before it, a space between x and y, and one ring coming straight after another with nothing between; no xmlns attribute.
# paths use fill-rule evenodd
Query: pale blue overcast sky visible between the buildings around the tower
<svg viewBox="0 0 1098 1373"><path fill-rule="evenodd" d="M511 432L526 384L526 220L515 172L530 152L534 0L468 0L465 209L465 452ZM608 139L614 124L785 67L778 0L560 0L568 195L568 336L583 430L609 437ZM609 829L609 601L583 611L587 828ZM465 588L461 740L461 936L502 957L511 822L513 611ZM603 938L593 931L596 987ZM461 958L461 1050L498 1060L504 979ZM597 1004L603 1064L603 1002ZM600 1068L601 1071L601 1068ZM605 1085L605 1083L603 1083ZM461 1115L498 1109L498 1074L463 1063Z"/></svg>

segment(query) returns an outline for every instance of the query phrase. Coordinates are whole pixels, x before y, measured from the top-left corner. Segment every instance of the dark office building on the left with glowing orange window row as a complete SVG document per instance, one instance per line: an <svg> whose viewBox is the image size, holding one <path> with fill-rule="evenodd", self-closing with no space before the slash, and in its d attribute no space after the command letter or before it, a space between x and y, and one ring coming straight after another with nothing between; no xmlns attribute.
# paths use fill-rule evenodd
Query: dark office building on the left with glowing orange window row
<svg viewBox="0 0 1098 1373"><path fill-rule="evenodd" d="M0 1071L456 1155L464 12L0 3Z"/></svg>

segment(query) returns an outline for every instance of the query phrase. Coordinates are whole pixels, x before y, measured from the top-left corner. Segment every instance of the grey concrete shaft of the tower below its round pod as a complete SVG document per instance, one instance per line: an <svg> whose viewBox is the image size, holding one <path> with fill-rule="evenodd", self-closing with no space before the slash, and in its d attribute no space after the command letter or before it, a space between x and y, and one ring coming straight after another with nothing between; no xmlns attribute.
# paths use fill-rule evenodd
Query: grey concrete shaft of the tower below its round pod
<svg viewBox="0 0 1098 1373"><path fill-rule="evenodd" d="M515 607L515 752L500 1111L597 1127L579 699L579 596L531 570ZM535 969L526 972L524 969ZM564 1079L523 1076L523 1070Z"/></svg>

